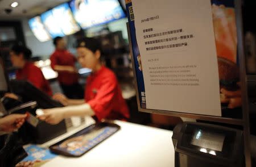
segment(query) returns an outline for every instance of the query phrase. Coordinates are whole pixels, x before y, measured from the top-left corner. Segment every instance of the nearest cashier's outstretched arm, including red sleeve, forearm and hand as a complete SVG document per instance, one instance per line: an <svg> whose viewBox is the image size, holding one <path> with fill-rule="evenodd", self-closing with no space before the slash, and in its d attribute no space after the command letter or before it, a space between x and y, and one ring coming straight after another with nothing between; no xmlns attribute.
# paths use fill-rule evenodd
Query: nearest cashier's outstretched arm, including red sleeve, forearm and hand
<svg viewBox="0 0 256 167"><path fill-rule="evenodd" d="M45 114L38 116L50 124L57 124L64 118L70 116L97 116L98 120L106 118L111 112L114 103L114 90L117 87L117 79L114 76L108 76L103 79L104 85L98 90L96 97L90 101L78 106L67 106L61 108L52 108L44 110Z"/></svg>

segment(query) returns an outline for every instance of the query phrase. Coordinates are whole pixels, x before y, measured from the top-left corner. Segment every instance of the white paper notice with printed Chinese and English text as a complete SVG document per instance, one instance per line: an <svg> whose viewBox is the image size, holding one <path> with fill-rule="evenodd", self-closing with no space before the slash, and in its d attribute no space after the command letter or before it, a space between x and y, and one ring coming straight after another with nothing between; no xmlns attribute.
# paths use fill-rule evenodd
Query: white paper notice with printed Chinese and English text
<svg viewBox="0 0 256 167"><path fill-rule="evenodd" d="M221 116L210 0L135 0L149 109Z"/></svg>

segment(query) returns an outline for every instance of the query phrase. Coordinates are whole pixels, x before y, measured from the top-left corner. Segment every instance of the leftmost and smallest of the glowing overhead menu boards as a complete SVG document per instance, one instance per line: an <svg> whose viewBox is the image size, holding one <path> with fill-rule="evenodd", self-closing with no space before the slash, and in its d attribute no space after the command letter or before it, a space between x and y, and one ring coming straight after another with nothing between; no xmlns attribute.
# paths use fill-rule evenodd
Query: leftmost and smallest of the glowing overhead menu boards
<svg viewBox="0 0 256 167"><path fill-rule="evenodd" d="M51 40L51 36L49 36L46 28L44 28L40 16L36 16L35 18L28 20L28 25L30 26L31 31L34 33L39 41L44 42L47 40Z"/></svg>

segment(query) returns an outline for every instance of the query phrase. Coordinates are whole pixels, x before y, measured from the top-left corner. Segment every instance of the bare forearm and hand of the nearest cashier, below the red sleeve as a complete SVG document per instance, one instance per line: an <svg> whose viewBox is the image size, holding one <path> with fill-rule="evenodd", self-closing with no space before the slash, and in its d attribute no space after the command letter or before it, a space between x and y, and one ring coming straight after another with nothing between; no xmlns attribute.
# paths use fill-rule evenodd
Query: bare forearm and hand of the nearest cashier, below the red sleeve
<svg viewBox="0 0 256 167"><path fill-rule="evenodd" d="M93 116L94 111L87 103L77 106L67 106L61 108L52 108L43 110L44 115L38 116L39 119L46 121L49 124L57 124L65 118L70 118L71 116Z"/></svg>

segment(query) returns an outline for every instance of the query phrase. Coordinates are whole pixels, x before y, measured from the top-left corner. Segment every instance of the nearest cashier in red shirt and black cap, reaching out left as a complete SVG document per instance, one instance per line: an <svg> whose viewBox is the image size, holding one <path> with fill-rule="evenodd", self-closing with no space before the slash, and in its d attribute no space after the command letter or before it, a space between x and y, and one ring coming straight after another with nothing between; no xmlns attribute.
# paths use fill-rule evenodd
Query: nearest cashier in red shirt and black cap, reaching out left
<svg viewBox="0 0 256 167"><path fill-rule="evenodd" d="M79 62L84 68L92 69L86 81L85 97L82 100L68 99L57 94L58 99L66 107L44 110L39 116L50 124L57 124L70 116L93 116L96 120L129 118L129 111L122 97L115 74L101 64L100 43L96 39L85 38L77 46Z"/></svg>

